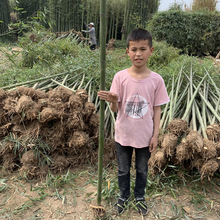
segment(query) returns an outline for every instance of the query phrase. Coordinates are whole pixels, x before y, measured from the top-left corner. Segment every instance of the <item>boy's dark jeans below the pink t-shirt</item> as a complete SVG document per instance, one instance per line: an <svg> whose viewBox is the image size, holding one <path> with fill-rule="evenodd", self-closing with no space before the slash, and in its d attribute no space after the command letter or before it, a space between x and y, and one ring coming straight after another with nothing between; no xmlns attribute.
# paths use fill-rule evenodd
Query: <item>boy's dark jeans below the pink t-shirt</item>
<svg viewBox="0 0 220 220"><path fill-rule="evenodd" d="M144 198L147 184L148 160L151 153L149 147L133 148L122 146L115 142L118 161L118 185L120 197L128 199L130 197L130 168L133 149L135 149L135 169L136 181L134 187L135 198Z"/></svg>

